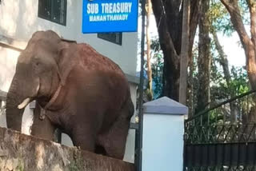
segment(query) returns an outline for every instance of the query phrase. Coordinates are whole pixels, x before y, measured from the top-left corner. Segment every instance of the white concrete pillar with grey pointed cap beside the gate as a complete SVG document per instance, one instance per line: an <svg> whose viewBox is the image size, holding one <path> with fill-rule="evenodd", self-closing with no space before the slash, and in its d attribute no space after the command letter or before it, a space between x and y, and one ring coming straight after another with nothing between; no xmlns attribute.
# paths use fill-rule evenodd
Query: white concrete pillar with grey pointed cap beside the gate
<svg viewBox="0 0 256 171"><path fill-rule="evenodd" d="M143 105L142 171L182 171L185 105L162 97Z"/></svg>

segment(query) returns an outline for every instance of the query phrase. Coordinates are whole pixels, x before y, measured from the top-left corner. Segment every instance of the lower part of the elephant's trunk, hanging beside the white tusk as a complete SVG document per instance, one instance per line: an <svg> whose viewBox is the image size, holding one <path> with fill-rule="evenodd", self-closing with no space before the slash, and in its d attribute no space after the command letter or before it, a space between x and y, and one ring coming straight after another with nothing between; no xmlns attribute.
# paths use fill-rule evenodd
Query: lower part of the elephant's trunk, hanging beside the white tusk
<svg viewBox="0 0 256 171"><path fill-rule="evenodd" d="M21 92L18 91L18 86L18 81L14 77L6 98L6 123L7 128L21 131L24 108L18 109L18 105L24 100L22 98L25 96L21 95Z"/></svg>

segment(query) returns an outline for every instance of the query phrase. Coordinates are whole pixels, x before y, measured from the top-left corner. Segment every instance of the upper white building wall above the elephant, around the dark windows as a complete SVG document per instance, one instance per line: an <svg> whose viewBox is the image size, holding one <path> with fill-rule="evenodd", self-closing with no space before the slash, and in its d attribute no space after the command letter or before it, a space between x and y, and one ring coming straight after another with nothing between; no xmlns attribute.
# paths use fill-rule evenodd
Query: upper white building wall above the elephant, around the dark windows
<svg viewBox="0 0 256 171"><path fill-rule="evenodd" d="M37 30L54 30L60 36L86 42L111 58L126 74L135 75L137 33L123 33L122 46L82 34L82 0L67 0L66 26L38 18L38 0L4 0L0 5L0 35L27 42Z"/></svg>

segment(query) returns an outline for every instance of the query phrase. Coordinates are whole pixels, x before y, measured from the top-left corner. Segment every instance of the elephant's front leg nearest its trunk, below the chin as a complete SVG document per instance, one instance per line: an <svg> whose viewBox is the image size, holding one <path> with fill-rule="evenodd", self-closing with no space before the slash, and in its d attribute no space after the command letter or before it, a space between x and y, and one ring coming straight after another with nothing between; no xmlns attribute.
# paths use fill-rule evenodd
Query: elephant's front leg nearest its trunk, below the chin
<svg viewBox="0 0 256 171"><path fill-rule="evenodd" d="M39 118L41 107L36 104L34 109L34 121L31 129L31 135L36 137L41 137L42 139L56 141L54 135L55 126L50 122L48 117L45 117L44 120Z"/></svg>

